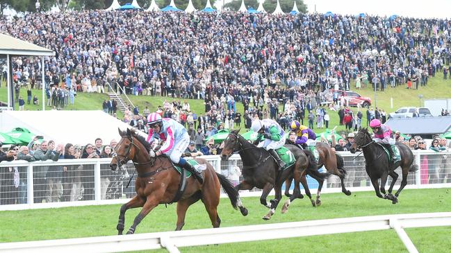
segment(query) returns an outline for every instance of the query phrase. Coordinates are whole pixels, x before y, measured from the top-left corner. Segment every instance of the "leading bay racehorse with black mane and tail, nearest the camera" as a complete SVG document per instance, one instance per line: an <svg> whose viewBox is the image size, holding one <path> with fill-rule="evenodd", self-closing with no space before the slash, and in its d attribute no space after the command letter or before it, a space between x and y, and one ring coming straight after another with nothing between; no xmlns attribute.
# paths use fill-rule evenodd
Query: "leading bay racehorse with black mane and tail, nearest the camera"
<svg viewBox="0 0 451 253"><path fill-rule="evenodd" d="M238 191L233 188L231 182L224 175L215 173L213 166L205 159L195 159L199 164L206 166L205 171L203 171L204 183L200 184L193 177L188 177L184 181L181 175L185 175L185 173L182 172L180 175L165 155L155 157L154 150L151 150L150 144L145 141L144 137L129 129L126 132L119 130L119 134L122 138L115 147L110 168L115 171L131 160L135 165L138 177L135 183L136 196L123 204L120 209L119 222L117 223L118 234L122 234L124 230L126 210L142 207L133 221L133 225L126 233L134 234L136 226L152 209L158 204L170 204L172 202L177 202L176 230L181 230L185 225L188 207L198 200L204 202L213 227L219 227L221 220L217 208L220 200L220 186L229 195L233 208L239 207L243 216L247 215L247 209L241 204ZM181 187L182 185L185 187ZM185 188L184 191L183 188Z"/></svg>

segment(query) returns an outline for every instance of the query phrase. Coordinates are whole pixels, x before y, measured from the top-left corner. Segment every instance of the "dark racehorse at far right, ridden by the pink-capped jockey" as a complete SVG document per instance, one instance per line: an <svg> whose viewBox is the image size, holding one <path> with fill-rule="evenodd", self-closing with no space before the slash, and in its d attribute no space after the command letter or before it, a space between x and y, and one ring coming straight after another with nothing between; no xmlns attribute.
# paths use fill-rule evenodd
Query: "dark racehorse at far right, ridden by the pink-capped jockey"
<svg viewBox="0 0 451 253"><path fill-rule="evenodd" d="M410 148L403 143L397 142L395 144L400 149L401 160L398 162L389 162L388 155L384 148L372 140L370 133L366 128L362 128L354 137L354 143L350 148L352 153L357 149L363 150L363 156L365 157L365 170L370 177L372 186L375 188L376 195L379 198L391 200L393 204L397 203L397 196L400 195L404 186L407 185L407 175L409 171L416 171L416 166L413 165L413 153ZM397 190L395 195L391 194L393 186L397 180L397 173L395 168L401 166L402 169L402 182L400 189ZM391 176L392 182L390 188L388 188L388 194L385 193L385 184L387 182L388 175ZM379 178L381 179L381 186L379 190ZM384 193L384 195L381 194Z"/></svg>

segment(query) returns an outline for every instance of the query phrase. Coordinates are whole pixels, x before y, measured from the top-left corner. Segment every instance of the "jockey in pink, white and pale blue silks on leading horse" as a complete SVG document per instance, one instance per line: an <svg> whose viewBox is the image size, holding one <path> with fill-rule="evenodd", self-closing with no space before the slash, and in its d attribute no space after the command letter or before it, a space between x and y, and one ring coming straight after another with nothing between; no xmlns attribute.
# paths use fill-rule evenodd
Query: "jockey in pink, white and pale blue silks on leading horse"
<svg viewBox="0 0 451 253"><path fill-rule="evenodd" d="M162 154L167 155L174 164L179 164L187 171L190 171L202 184L204 182L202 173L197 171L190 163L186 162L186 159L181 157L190 144L190 136L183 125L173 119L162 119L161 115L157 112L149 114L147 116L147 122L149 123L147 142L152 143L155 138L165 141L163 146L155 154L157 156Z"/></svg>

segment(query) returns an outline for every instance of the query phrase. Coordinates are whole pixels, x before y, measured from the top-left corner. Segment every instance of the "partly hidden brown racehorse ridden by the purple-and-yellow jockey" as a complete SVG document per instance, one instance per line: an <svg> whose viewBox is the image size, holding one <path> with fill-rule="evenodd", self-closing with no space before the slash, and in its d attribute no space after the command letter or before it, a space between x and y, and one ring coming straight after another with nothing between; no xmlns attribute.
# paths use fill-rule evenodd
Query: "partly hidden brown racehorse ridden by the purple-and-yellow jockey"
<svg viewBox="0 0 451 253"><path fill-rule="evenodd" d="M293 143L291 141L288 141L288 142ZM327 173L340 177L341 191L343 193L345 193L345 195L348 195L348 196L351 195L351 191L349 191L345 188L346 171L345 171L345 167L344 167L343 157L341 157L341 155L338 155L334 150L332 150L330 148L330 146L327 145L327 143L317 141L315 148L318 151L318 168L317 169L321 168L322 166L325 166ZM314 174L313 175L309 174L309 175L311 177L313 177L313 179L318 181L318 191L316 193L316 203L312 202L313 207L318 207L321 205L321 200L320 200L321 189L322 189L322 184L324 184L325 178L315 177ZM290 190L291 179L288 178L285 183L287 186L285 188L285 195L290 196L289 190ZM304 184L302 186L304 186ZM309 186L307 184L304 186L304 190L306 191L306 194L307 194L307 192L310 193Z"/></svg>

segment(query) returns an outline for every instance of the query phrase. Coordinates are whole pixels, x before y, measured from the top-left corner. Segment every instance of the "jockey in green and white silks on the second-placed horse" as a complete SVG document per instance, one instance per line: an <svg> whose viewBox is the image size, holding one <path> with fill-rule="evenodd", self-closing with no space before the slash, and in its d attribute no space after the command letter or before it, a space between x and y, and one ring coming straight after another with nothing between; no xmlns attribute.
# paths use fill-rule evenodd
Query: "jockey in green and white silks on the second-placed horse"
<svg viewBox="0 0 451 253"><path fill-rule="evenodd" d="M259 148L265 148L268 150L272 157L276 159L277 164L279 164L279 171L286 165L279 155L277 155L276 149L281 148L285 144L285 132L280 127L279 123L273 121L272 119L256 119L252 121L252 131L258 132L256 141L254 144L259 144ZM265 137L265 141L261 141L261 137Z"/></svg>

